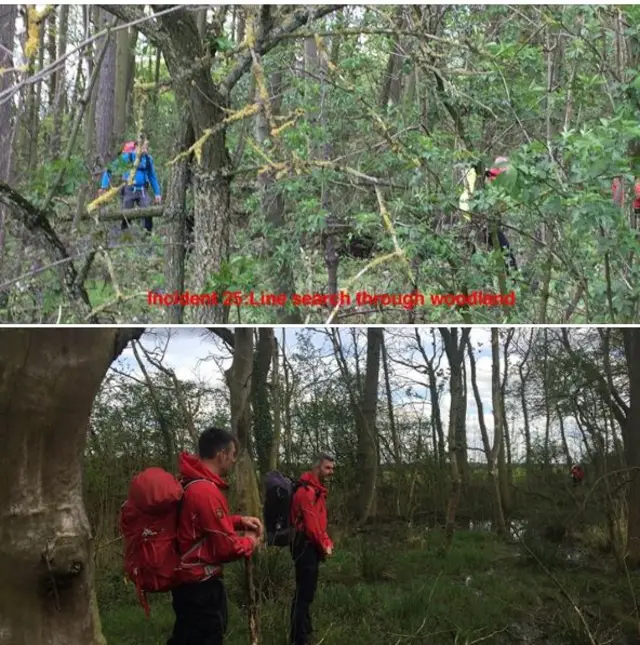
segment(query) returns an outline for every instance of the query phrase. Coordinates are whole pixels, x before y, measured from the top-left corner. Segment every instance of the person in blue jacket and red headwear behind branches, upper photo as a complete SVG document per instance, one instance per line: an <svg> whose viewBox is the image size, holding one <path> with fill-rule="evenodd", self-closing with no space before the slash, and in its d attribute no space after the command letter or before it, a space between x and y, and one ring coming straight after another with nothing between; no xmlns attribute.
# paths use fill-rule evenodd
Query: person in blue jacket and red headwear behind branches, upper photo
<svg viewBox="0 0 640 645"><path fill-rule="evenodd" d="M133 168L133 164L136 160L137 153L137 144L135 141L129 141L124 144L122 149L122 154L120 155L120 160L126 166L129 167L129 170L125 170L122 173L122 181L127 182L127 185L122 190L122 210L130 210L136 206L140 208L145 208L149 206L150 199L148 194L148 186L151 185L153 189L153 194L155 196L155 203L160 204L162 202L162 191L160 190L160 182L156 176L156 170L153 165L153 158L149 154L149 142L144 140L142 147L140 149L140 163L136 170L135 178L133 184L129 185L129 173ZM112 166L116 166L117 162L114 162ZM109 168L104 171L102 175L102 185L100 192L104 192L111 188L111 177L113 175L114 168ZM143 218L144 228L151 232L153 229L153 220L151 217ZM121 229L125 230L129 228L129 222L126 218L122 218Z"/></svg>

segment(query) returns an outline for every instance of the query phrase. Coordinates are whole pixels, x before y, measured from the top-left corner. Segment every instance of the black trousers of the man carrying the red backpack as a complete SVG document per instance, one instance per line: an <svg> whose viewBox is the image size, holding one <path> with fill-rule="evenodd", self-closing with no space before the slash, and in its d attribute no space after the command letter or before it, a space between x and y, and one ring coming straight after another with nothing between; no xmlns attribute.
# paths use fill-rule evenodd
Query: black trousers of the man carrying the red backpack
<svg viewBox="0 0 640 645"><path fill-rule="evenodd" d="M172 589L176 622L167 645L222 645L227 630L227 593L222 578Z"/></svg>

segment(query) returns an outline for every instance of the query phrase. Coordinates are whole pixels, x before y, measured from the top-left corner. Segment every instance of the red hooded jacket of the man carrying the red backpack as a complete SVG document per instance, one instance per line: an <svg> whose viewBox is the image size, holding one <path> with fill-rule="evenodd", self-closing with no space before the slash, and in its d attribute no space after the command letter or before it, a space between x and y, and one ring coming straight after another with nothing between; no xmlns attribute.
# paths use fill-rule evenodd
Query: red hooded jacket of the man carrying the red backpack
<svg viewBox="0 0 640 645"><path fill-rule="evenodd" d="M249 558L253 542L236 534L241 516L231 515L222 491L228 484L205 464L186 452L179 458L182 483L204 479L185 489L178 519L178 548L185 556L179 581L197 582L222 573L222 564Z"/></svg>

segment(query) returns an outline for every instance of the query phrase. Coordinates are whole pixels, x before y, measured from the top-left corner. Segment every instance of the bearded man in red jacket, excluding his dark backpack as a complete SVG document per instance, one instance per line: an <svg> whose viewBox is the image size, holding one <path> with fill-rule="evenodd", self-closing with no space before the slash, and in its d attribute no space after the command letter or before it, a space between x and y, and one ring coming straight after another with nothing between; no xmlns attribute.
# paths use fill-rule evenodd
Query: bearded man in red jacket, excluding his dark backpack
<svg viewBox="0 0 640 645"><path fill-rule="evenodd" d="M320 562L333 553L327 534L327 489L335 460L320 455L312 470L300 477L291 501L291 526L294 537L291 555L296 568L296 592L291 604L291 644L308 645L313 632L311 603L318 586Z"/></svg>

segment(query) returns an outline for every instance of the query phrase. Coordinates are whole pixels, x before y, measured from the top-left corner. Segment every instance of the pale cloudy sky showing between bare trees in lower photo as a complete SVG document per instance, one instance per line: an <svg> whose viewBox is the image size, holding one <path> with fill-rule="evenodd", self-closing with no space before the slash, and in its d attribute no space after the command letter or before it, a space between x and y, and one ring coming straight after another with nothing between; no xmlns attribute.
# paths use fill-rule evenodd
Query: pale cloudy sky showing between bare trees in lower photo
<svg viewBox="0 0 640 645"><path fill-rule="evenodd" d="M282 341L283 328L276 327L276 337L279 342ZM430 335L429 328L421 328L425 349L429 351ZM288 328L285 333L287 355L291 356L294 351L301 351L297 334L304 331L303 329ZM361 333L361 332L359 332ZM345 346L351 343L351 336L348 330L341 330ZM404 339L403 336L411 336L412 328L388 328L385 330L385 339L388 347L389 357L393 359L398 357L398 348L405 348L404 358L409 361L422 363L422 359L417 353L407 353L410 347L410 340ZM335 357L333 356L329 339L323 329L311 330L309 332L312 346L321 352L322 362L326 363L333 369L337 369ZM476 351L476 374L478 389L484 408L485 423L489 433L490 440L493 437L493 406L491 395L491 336L489 328L474 328L471 331L471 342ZM167 342L168 339L168 342ZM364 339L363 339L364 340ZM201 328L155 328L145 332L141 339L145 348L153 350L159 345L166 342L166 352L163 364L174 369L177 377L181 380L192 380L195 382L206 383L208 387L226 390L224 381L224 370L231 365L231 353L225 347L224 343L214 337L209 331ZM364 342L362 343L364 349ZM364 361L364 354L362 354ZM409 362L408 361L408 362ZM513 361L513 359L510 359ZM446 357L442 360L442 367L447 368ZM142 377L140 368L135 360L131 348L127 348L120 359L115 364L120 371L130 372L133 375ZM428 391L425 384L425 377L418 371L408 366L391 363L393 383L398 387L393 395L394 412L398 419L422 417L423 422L428 422L430 418L430 404ZM154 372L151 365L147 365L150 372ZM504 365L501 365L504 369ZM513 379L513 375L510 377ZM411 386L417 396L407 394L407 388ZM482 448L480 429L478 425L478 410L476 407L475 397L470 383L470 370L467 359L467 436L469 442L469 459L478 460L482 456L478 452ZM383 372L380 371L380 387L383 387ZM385 405L383 390L380 390L380 404ZM422 400L420 400L422 399ZM450 407L450 395L448 383L444 388L441 398L441 412L443 424L446 432L448 425L448 415ZM522 455L524 451L524 439L522 437L522 415L519 406L512 415L507 412L507 419L512 432L512 449L515 454ZM542 420L533 420L532 429L542 432ZM570 443L570 448L578 449L577 427L572 419L566 420L566 431Z"/></svg>

